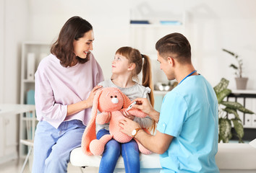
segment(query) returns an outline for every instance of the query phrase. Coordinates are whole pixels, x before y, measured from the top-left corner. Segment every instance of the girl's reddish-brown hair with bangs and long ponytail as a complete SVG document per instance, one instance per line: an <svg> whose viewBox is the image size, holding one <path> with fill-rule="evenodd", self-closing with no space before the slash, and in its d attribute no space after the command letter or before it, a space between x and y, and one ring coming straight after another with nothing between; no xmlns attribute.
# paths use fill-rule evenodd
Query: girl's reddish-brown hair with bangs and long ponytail
<svg viewBox="0 0 256 173"><path fill-rule="evenodd" d="M150 87L150 103L152 106L154 106L155 100L153 94L153 81L150 58L146 55L142 55L139 50L131 47L121 47L118 50L116 50L116 53L126 57L129 63L135 63L135 71L132 74L133 77L137 78L137 75L140 74L140 71L142 70L142 85ZM150 128L150 130L152 129L155 130L155 120L153 120L153 125L152 128Z"/></svg>

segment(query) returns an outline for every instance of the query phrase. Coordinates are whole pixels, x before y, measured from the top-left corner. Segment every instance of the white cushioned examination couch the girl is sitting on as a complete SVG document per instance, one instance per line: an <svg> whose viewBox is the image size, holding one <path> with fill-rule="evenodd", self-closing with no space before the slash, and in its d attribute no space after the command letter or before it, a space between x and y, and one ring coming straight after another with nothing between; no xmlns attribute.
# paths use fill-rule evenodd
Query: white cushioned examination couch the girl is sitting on
<svg viewBox="0 0 256 173"><path fill-rule="evenodd" d="M70 162L77 167L99 167L101 156L86 156L82 148L75 148ZM256 172L256 148L248 143L218 143L216 164L221 172ZM158 154L140 154L141 172L160 172ZM86 170L85 170L86 171ZM115 172L124 172L124 160L120 156Z"/></svg>

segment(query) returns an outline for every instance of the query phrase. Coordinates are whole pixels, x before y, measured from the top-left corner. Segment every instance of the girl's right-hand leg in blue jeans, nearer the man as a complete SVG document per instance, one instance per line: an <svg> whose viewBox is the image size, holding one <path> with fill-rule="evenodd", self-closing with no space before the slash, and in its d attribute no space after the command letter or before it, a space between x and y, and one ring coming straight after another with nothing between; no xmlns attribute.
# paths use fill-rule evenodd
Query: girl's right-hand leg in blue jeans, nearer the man
<svg viewBox="0 0 256 173"><path fill-rule="evenodd" d="M126 173L140 172L140 152L137 142L134 139L128 143L121 144L121 156L124 158Z"/></svg>

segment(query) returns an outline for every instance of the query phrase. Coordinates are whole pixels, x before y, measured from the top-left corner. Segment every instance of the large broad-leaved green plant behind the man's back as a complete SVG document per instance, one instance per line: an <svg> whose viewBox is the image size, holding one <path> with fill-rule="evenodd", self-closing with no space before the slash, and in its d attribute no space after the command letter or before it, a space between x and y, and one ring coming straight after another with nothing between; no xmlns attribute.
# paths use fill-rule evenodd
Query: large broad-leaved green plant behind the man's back
<svg viewBox="0 0 256 173"><path fill-rule="evenodd" d="M223 101L231 94L231 89L227 88L228 85L228 80L221 79L220 83L213 88L218 99L218 142L223 141L223 143L229 143L229 139L232 138L232 135L236 135L239 138L239 143L243 143L244 127L237 111L247 114L254 114L254 112L247 110L239 102ZM229 118L229 114L233 114L234 118ZM235 134L231 133L232 123L236 132Z"/></svg>

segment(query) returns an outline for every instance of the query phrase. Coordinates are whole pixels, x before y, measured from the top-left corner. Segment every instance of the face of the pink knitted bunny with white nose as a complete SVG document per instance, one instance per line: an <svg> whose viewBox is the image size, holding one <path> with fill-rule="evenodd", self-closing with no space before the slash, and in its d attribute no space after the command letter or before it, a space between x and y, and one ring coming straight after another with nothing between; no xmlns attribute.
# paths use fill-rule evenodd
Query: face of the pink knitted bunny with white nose
<svg viewBox="0 0 256 173"><path fill-rule="evenodd" d="M98 110L108 112L121 110L124 105L124 98L116 88L105 88L98 98Z"/></svg>

